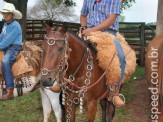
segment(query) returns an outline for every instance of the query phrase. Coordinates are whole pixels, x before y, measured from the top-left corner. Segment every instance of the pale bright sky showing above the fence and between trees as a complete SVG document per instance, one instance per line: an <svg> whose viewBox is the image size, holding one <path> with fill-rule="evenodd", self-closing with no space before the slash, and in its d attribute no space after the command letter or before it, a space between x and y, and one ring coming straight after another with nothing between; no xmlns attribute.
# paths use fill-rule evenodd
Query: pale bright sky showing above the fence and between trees
<svg viewBox="0 0 163 122"><path fill-rule="evenodd" d="M36 4L37 0L28 0L28 7ZM156 22L158 0L135 0L132 7L123 11L125 22ZM75 0L75 14L79 17L82 8L83 0ZM3 0L0 0L0 9L2 9ZM1 17L0 17L1 18Z"/></svg>

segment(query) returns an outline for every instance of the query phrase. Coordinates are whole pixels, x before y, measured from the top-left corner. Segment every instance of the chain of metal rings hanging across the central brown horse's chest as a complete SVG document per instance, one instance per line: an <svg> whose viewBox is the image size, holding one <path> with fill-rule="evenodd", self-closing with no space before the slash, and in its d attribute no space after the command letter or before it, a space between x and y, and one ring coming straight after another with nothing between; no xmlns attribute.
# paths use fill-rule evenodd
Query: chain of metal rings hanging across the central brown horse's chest
<svg viewBox="0 0 163 122"><path fill-rule="evenodd" d="M62 87L62 91L63 91L63 96L62 96L62 104L65 105L65 99L67 99L67 121L69 122L70 121L70 118L71 118L71 111L72 111L72 104L79 104L79 108L80 108L80 112L82 113L83 112L83 98L84 98L84 95L85 95L85 92L87 91L87 86L90 84L90 78L92 76L92 73L91 73L91 70L93 69L93 57L90 53L90 49L87 48L87 54L88 54L88 57L87 57L87 72L86 72L86 79L84 80L84 86L82 87L82 89L80 90L73 90L72 88L70 88L70 86L63 86ZM73 82L75 80L74 77L71 77L71 75L69 76L69 80L71 82ZM72 100L69 99L69 94L68 92L66 92L66 90L72 92L72 93L75 93L75 94L78 94L78 97L75 97L73 98Z"/></svg>

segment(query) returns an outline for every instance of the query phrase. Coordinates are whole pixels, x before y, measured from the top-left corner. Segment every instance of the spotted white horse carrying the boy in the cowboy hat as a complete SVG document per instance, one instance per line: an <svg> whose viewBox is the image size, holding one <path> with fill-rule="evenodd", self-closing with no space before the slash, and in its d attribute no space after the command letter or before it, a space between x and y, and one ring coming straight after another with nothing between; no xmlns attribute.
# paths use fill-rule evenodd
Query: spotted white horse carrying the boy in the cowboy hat
<svg viewBox="0 0 163 122"><path fill-rule="evenodd" d="M13 74L16 79L14 97L26 95L39 89L42 99L44 122L48 122L52 110L54 111L57 122L61 122L62 109L59 101L60 93L55 93L51 91L48 87L40 87L39 85L39 80L41 76L40 67L42 50L36 45L31 44L30 42L25 44L23 50L25 51L22 51L20 53L20 55L18 56L19 60L16 61L12 67ZM3 54L0 52L0 55ZM32 66L32 69L29 66ZM25 71L25 69L27 69L28 72L27 70ZM24 73L22 74L22 72ZM2 97L2 93L5 92L5 82L3 81L1 74L2 73L0 71L0 97ZM55 86L56 83L54 82L53 85Z"/></svg>

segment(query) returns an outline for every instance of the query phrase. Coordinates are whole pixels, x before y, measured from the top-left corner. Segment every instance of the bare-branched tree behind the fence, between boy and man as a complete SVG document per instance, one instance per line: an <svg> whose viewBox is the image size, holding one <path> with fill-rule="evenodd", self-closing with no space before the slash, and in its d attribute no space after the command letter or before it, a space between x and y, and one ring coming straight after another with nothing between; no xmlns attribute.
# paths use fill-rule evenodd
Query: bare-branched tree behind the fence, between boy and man
<svg viewBox="0 0 163 122"><path fill-rule="evenodd" d="M27 17L41 20L71 21L75 18L73 8L64 2L54 0L38 0L35 6L29 9Z"/></svg>

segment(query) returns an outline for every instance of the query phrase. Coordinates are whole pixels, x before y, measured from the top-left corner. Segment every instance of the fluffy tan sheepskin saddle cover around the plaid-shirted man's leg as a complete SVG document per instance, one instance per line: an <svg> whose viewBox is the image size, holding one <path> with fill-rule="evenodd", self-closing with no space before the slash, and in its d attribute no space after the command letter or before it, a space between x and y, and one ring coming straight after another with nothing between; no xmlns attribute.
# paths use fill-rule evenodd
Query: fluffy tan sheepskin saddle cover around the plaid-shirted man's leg
<svg viewBox="0 0 163 122"><path fill-rule="evenodd" d="M136 54L121 34L117 33L116 38L120 42L126 57L126 68L124 72L124 78L122 80L123 83L135 71ZM93 43L93 45L95 45L95 47L97 48L97 59L99 62L99 67L101 67L103 70L106 70L108 64L111 62L114 53L116 53L115 58L111 62L110 68L107 70L106 77L107 79L109 79L107 80L107 84L114 84L115 81L119 81L121 68L116 46L114 44L114 36L109 34L108 32L96 31L91 32L87 36L87 40Z"/></svg>

